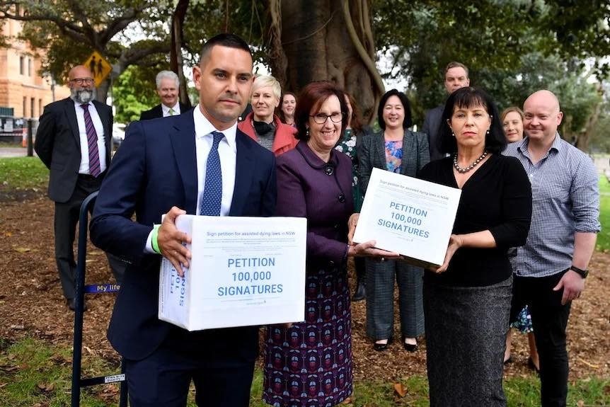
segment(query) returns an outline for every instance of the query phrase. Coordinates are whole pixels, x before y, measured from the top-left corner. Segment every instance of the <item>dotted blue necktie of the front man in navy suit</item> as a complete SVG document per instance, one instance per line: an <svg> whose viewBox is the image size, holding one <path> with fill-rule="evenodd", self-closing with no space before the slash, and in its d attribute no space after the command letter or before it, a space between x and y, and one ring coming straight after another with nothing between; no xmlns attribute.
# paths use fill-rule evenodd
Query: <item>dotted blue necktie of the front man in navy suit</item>
<svg viewBox="0 0 610 407"><path fill-rule="evenodd" d="M212 143L212 149L209 150L207 164L205 166L205 186L201 199L200 214L219 216L220 202L222 200L222 171L220 156L218 154L218 144L222 137L224 137L224 134L221 132L212 132L212 135L214 136L214 142Z"/></svg>

